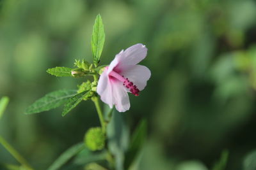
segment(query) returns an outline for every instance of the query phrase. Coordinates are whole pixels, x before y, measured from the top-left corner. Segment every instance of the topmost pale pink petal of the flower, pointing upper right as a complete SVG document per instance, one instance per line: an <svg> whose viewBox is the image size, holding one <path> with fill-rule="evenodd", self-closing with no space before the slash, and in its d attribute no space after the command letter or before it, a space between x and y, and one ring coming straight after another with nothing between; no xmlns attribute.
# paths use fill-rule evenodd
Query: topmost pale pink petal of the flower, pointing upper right
<svg viewBox="0 0 256 170"><path fill-rule="evenodd" d="M143 44L136 44L127 48L123 53L118 53L116 57L119 59L118 67L122 65L136 65L145 59L148 49Z"/></svg>

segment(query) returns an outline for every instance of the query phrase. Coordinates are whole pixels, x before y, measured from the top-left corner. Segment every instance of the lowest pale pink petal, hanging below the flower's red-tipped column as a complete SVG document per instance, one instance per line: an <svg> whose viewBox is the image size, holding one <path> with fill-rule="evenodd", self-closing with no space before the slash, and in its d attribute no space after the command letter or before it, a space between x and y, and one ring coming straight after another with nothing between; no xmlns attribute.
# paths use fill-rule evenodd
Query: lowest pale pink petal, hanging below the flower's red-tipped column
<svg viewBox="0 0 256 170"><path fill-rule="evenodd" d="M113 103L116 106L116 110L119 112L124 112L129 110L130 101L127 91L120 81L113 82Z"/></svg>

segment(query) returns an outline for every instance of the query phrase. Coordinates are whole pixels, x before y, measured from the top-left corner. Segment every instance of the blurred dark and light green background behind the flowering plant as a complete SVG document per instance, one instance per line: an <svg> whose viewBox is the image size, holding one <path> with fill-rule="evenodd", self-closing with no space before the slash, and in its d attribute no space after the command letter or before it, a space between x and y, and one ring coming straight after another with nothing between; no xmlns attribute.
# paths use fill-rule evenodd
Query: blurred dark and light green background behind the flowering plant
<svg viewBox="0 0 256 170"><path fill-rule="evenodd" d="M10 104L0 134L45 169L100 125L91 101L66 117L61 108L24 115L44 94L85 80L45 71L92 61L98 13L106 32L101 64L136 43L148 48L141 64L152 76L120 113L130 131L148 120L140 169L211 169L224 149L227 169L243 169L256 149L256 3L250 0L1 0L0 97L9 96ZM0 162L17 164L2 146Z"/></svg>

